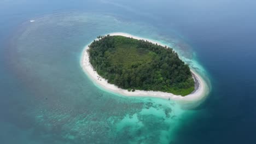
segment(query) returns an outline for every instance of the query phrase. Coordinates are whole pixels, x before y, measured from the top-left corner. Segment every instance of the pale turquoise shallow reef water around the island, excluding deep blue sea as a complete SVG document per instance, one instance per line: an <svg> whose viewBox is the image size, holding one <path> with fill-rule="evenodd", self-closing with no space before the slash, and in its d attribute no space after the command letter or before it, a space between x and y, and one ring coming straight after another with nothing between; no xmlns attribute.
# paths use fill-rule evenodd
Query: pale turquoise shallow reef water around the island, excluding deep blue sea
<svg viewBox="0 0 256 144"><path fill-rule="evenodd" d="M13 124L25 129L26 137L43 143L168 143L197 115L173 101L102 91L79 65L84 46L97 35L125 32L172 46L205 74L178 34L161 35L146 23L96 13L55 13L33 20L13 35L5 59L25 89L8 113L19 115Z"/></svg>

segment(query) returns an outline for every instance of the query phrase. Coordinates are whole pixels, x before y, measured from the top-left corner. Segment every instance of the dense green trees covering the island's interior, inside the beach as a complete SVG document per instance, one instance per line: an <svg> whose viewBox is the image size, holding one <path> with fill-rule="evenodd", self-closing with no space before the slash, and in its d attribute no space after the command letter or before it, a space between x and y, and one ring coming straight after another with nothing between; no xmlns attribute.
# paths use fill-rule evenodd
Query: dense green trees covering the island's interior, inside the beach
<svg viewBox="0 0 256 144"><path fill-rule="evenodd" d="M194 91L188 65L171 48L123 36L97 38L89 46L90 63L109 83L129 91Z"/></svg>

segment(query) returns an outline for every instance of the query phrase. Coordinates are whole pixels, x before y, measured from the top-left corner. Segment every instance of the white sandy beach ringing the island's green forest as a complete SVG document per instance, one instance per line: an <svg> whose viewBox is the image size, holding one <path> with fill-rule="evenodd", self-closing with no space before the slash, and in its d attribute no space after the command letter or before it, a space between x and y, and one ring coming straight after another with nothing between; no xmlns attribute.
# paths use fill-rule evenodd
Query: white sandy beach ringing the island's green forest
<svg viewBox="0 0 256 144"><path fill-rule="evenodd" d="M110 33L109 35L122 35L124 37L132 37L134 39L144 39L152 43L157 43L156 41L153 41L150 39L140 38L140 37L136 37L135 35L126 34L126 33ZM125 96L130 96L130 97L157 97L157 98L164 98L164 99L170 98L171 100L177 101L179 104L189 104L189 105L194 105L194 103L198 103L199 101L202 101L208 94L209 89L206 82L194 70L191 70L191 72L193 73L193 76L196 82L196 89L194 92L192 92L189 95L186 95L185 97L182 97L181 95L174 95L172 93L166 93L166 92L139 91L139 90L136 90L135 92L129 92L126 89L118 88L117 86L108 83L107 80L103 79L100 75L97 74L96 71L94 71L92 65L89 62L89 53L87 52L90 44L86 45L83 50L80 65L83 68L84 72L90 77L90 79L96 85L100 85L102 88L110 92L118 93ZM162 45L162 44L159 44L159 45ZM162 46L165 46L165 45L162 45ZM100 77L100 79L98 77Z"/></svg>

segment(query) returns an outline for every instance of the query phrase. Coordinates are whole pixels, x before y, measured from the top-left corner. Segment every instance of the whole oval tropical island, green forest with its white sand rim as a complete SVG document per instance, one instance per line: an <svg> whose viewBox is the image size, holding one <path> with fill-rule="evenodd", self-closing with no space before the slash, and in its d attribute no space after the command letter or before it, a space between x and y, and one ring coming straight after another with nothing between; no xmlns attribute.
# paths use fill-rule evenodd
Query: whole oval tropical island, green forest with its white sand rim
<svg viewBox="0 0 256 144"><path fill-rule="evenodd" d="M107 91L131 97L200 101L208 86L170 47L127 33L98 36L86 45L81 67Z"/></svg>

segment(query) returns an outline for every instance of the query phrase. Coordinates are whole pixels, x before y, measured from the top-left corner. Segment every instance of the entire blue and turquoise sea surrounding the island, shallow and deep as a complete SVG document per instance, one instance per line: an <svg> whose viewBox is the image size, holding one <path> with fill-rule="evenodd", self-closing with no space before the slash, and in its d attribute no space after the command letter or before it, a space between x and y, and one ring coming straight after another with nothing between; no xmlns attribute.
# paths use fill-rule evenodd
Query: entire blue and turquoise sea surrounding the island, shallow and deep
<svg viewBox="0 0 256 144"><path fill-rule="evenodd" d="M0 143L256 143L253 1L1 1ZM127 98L80 68L124 32L173 47L210 86L200 106Z"/></svg>

